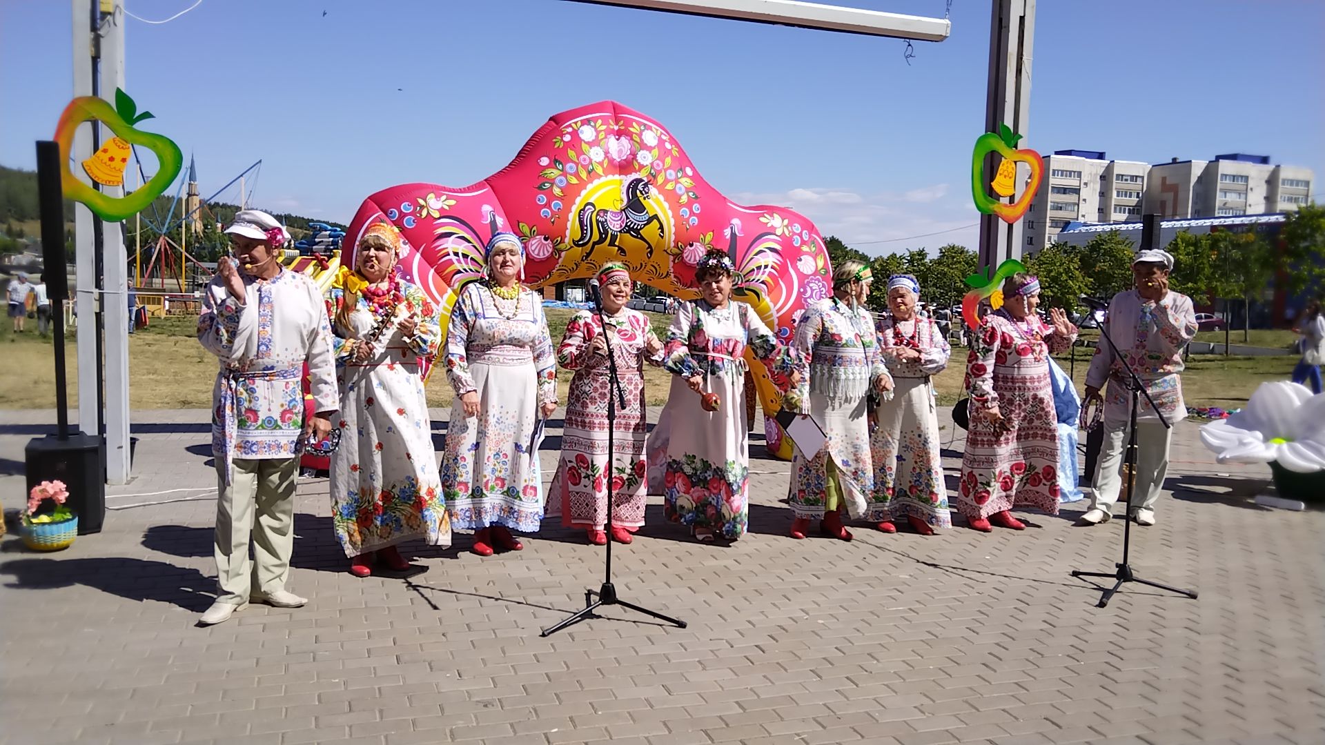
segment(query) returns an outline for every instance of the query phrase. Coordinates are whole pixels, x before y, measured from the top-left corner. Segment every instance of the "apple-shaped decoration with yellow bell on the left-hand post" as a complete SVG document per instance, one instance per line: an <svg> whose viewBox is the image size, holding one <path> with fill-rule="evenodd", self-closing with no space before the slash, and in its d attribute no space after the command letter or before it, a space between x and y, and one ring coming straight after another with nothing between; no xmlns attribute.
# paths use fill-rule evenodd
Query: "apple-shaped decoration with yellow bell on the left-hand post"
<svg viewBox="0 0 1325 745"><path fill-rule="evenodd" d="M56 142L60 143L61 155L60 180L65 196L74 201L82 201L102 220L118 223L144 209L154 199L164 194L184 166L184 154L170 138L134 129L135 123L151 118L151 111L139 114L134 99L118 87L115 89L114 109L95 95L80 95L70 101L69 106L65 106L64 113L60 114L60 123L56 125ZM122 186L125 167L129 166L129 155L135 144L156 154L156 175L122 198L102 194L78 180L69 168L69 152L73 150L74 131L78 125L93 119L110 127L115 135L82 163L83 170L93 180L102 186Z"/></svg>

